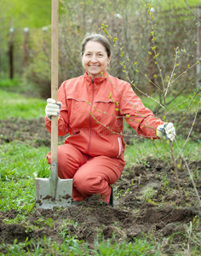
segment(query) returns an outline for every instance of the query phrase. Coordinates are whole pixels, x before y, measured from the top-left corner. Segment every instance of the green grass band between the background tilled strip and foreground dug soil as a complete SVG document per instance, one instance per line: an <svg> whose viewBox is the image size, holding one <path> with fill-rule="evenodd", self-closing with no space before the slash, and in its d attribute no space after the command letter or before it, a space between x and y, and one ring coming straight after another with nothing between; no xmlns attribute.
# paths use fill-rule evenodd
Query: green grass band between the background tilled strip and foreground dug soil
<svg viewBox="0 0 201 256"><path fill-rule="evenodd" d="M142 139L138 143L137 150L135 147L127 145L125 161L127 167L135 164L141 164L146 160L147 156L156 156L156 148L150 140ZM181 142L180 142L181 143ZM184 154L188 156L192 147L195 150L192 152L191 160L199 160L200 143L187 143ZM145 148L148 148L146 150ZM165 154L164 147L160 146L161 154ZM7 143L0 145L0 210L8 211L10 208L18 209L28 214L32 209L35 201L34 176L49 177L49 165L46 161L46 154L49 148L40 147L32 148L25 143ZM158 155L158 157L166 157ZM5 201L5 198L9 199ZM25 203L29 201L31 206ZM32 205L33 204L33 205Z"/></svg>

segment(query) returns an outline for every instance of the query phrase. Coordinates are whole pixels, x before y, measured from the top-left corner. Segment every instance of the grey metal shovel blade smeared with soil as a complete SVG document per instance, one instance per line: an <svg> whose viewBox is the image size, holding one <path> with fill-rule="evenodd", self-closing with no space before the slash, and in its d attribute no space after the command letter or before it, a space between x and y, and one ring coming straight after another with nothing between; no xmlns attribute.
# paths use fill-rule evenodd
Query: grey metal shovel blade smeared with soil
<svg viewBox="0 0 201 256"><path fill-rule="evenodd" d="M53 209L54 207L70 207L72 205L72 178L60 179L58 177L55 195L50 189L50 178L35 178L36 207Z"/></svg>

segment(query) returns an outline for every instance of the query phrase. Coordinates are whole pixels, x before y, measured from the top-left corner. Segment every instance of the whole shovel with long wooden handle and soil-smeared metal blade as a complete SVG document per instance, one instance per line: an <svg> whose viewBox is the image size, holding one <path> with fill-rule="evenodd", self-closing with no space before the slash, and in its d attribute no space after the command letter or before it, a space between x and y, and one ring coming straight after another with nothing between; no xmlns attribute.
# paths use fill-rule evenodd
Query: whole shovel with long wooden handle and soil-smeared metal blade
<svg viewBox="0 0 201 256"><path fill-rule="evenodd" d="M51 97L58 101L58 41L59 0L52 0L51 31ZM51 174L49 178L35 178L36 207L53 209L72 204L72 179L57 176L58 164L58 117L51 117Z"/></svg>

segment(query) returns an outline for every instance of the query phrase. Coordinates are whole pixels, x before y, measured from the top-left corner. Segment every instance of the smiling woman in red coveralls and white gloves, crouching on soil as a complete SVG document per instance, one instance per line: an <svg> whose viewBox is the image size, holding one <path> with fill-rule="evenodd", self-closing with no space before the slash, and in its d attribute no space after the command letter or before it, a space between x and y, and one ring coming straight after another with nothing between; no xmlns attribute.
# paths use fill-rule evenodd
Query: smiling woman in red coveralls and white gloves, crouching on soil
<svg viewBox="0 0 201 256"><path fill-rule="evenodd" d="M73 177L74 204L98 194L113 205L111 184L118 181L125 165L123 118L142 137L164 135L173 140L175 128L154 117L130 84L106 73L111 48L105 37L84 38L81 55L86 73L61 84L61 103L47 100L45 125L51 132L51 116L59 115L59 136L70 133L58 147L58 177ZM47 159L50 164L50 152Z"/></svg>

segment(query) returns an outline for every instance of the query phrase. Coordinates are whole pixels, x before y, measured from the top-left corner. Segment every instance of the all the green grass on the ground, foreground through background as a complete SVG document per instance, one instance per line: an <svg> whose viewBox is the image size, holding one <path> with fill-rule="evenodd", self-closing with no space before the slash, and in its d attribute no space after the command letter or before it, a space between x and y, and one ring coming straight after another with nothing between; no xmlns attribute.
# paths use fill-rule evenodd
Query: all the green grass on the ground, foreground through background
<svg viewBox="0 0 201 256"><path fill-rule="evenodd" d="M1 87L1 86L0 86ZM0 107L1 119L20 118L33 119L44 115L46 102L36 98L26 98L17 93L11 93L0 89ZM149 102L146 102L146 107L151 108ZM177 104L177 102L175 102ZM196 102L197 103L197 102ZM131 145L126 146L125 160L127 166L130 163L141 163L146 160L147 156L164 158L165 150L161 143L155 142L156 147L151 140L141 139L136 141L138 147ZM182 147L184 141L180 138L178 144ZM169 145L167 145L169 147ZM193 148L193 150L192 150ZM190 157L191 160L199 160L200 141L193 143L189 140L183 154ZM178 152L179 149L176 149ZM10 209L16 209L19 214L12 220L12 223L24 223L30 212L35 211L35 181L34 177L49 177L49 165L46 162L46 154L49 148L40 147L32 148L26 143L5 143L0 145L0 211L6 212ZM11 220L4 219L5 224L10 224ZM38 220L39 221L39 220ZM43 222L43 219L40 220ZM45 220L44 220L45 221ZM53 220L45 221L46 225L51 226ZM39 225L37 223L36 225ZM195 225L198 225L198 221ZM36 228L34 225L28 224L27 233ZM195 228L194 228L195 229ZM187 234L189 236L189 228ZM66 232L60 230L60 234ZM195 236L193 234L193 236ZM112 240L105 240L101 234L95 240L95 248L90 249L87 243L78 241L74 236L64 236L63 242L58 243L47 239L43 236L41 239L26 239L26 241L14 241L11 245L1 244L6 255L161 255L161 247L163 242L158 243L154 238L147 239L146 237L134 238L132 242L115 242L115 237ZM190 237L188 239L190 241ZM193 247L193 255L199 255L200 247ZM84 253L83 253L84 252ZM175 254L176 255L176 254ZM178 253L178 255L181 255Z"/></svg>

